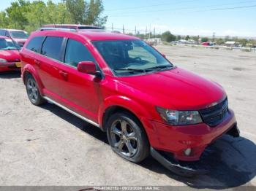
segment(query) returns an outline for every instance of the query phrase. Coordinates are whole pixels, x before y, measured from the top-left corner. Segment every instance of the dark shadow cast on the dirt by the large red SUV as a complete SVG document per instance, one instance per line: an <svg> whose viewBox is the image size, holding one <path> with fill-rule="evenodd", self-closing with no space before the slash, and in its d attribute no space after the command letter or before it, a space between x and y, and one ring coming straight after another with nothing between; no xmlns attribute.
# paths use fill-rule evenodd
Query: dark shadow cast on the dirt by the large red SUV
<svg viewBox="0 0 256 191"><path fill-rule="evenodd" d="M90 136L108 144L106 133L99 128L95 128L69 112L53 104L45 104L43 109L48 109L53 114L61 117L67 122L75 125ZM203 155L200 167L208 169L209 174L186 178L173 174L161 164L148 157L138 164L143 168L154 171L157 174L165 174L171 179L183 182L192 188L227 189L246 184L256 176L256 145L244 137L233 138L232 136L222 136L208 147Z"/></svg>

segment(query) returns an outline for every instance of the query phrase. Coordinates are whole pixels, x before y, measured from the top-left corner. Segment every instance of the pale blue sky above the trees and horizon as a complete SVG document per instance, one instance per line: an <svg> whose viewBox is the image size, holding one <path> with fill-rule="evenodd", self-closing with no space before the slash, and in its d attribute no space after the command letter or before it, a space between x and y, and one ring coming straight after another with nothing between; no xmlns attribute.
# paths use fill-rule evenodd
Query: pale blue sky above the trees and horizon
<svg viewBox="0 0 256 191"><path fill-rule="evenodd" d="M0 9L14 0L1 0ZM47 0L45 0L47 1ZM53 0L60 2L61 0ZM256 36L256 0L102 0L106 27L140 33Z"/></svg>

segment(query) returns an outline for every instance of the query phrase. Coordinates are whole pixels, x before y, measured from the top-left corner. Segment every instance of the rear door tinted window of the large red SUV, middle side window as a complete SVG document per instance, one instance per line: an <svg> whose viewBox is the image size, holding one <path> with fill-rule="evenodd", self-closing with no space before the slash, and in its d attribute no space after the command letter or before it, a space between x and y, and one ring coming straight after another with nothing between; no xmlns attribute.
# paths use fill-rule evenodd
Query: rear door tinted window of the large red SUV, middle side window
<svg viewBox="0 0 256 191"><path fill-rule="evenodd" d="M42 55L60 61L62 37L48 36L42 44Z"/></svg>

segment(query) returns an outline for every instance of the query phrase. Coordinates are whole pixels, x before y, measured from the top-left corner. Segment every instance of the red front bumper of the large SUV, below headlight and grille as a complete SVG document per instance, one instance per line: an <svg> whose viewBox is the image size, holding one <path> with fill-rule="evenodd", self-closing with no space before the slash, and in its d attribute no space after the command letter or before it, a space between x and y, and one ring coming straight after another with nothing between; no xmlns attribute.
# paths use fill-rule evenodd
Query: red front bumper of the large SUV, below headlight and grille
<svg viewBox="0 0 256 191"><path fill-rule="evenodd" d="M200 159L204 149L224 133L236 125L236 117L230 109L222 123L209 127L205 123L197 125L171 126L161 122L146 122L152 126L148 129L151 147L157 150L171 152L176 160L195 161ZM153 133L154 132L154 133ZM191 149L189 155L185 149Z"/></svg>

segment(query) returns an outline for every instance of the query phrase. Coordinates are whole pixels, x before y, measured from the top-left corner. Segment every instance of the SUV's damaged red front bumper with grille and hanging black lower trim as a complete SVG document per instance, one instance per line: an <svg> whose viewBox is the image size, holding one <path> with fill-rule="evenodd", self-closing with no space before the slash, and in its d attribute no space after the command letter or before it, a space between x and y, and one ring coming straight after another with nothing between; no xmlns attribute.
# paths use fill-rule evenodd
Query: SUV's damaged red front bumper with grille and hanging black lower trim
<svg viewBox="0 0 256 191"><path fill-rule="evenodd" d="M206 148L225 133L239 136L235 114L228 109L226 100L200 110L203 122L195 125L170 126L154 122L160 144L151 147L151 155L176 174L206 174L207 169L195 165Z"/></svg>

